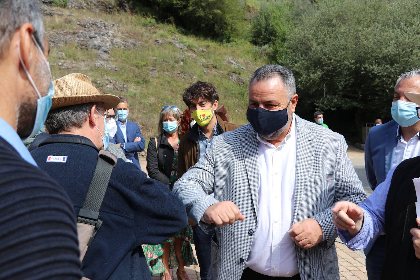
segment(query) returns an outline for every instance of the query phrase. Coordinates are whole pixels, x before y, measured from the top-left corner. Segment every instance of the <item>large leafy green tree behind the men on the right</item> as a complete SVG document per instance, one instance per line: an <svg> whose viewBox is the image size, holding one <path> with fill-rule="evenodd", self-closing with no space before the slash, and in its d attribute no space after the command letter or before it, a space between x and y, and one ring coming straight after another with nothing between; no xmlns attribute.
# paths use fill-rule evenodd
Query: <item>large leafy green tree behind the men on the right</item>
<svg viewBox="0 0 420 280"><path fill-rule="evenodd" d="M300 106L344 111L359 126L389 119L396 79L420 67L420 1L311 5L275 46L277 62L294 72Z"/></svg>

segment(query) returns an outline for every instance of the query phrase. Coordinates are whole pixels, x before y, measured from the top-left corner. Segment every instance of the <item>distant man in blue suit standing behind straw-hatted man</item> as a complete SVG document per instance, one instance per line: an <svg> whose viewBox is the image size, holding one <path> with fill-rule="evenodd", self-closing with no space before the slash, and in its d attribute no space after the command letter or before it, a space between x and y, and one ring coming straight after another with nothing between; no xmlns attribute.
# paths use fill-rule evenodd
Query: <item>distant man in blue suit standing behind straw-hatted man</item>
<svg viewBox="0 0 420 280"><path fill-rule="evenodd" d="M142 170L137 152L144 151L146 140L144 140L139 126L127 120L130 113L127 99L124 97L120 97L120 99L120 104L114 108L115 113L118 115L117 133L113 139L110 139L110 142L117 144L118 147L123 149L127 162L134 163Z"/></svg>

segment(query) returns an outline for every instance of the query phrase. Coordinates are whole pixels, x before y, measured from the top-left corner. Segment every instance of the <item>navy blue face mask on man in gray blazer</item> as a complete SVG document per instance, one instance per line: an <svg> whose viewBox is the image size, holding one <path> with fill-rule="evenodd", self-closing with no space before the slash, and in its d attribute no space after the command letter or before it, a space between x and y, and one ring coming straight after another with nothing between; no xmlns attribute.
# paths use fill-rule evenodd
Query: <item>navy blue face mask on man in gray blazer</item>
<svg viewBox="0 0 420 280"><path fill-rule="evenodd" d="M258 134L268 135L286 125L288 120L287 107L276 111L266 110L261 107L255 109L248 107L247 119Z"/></svg>

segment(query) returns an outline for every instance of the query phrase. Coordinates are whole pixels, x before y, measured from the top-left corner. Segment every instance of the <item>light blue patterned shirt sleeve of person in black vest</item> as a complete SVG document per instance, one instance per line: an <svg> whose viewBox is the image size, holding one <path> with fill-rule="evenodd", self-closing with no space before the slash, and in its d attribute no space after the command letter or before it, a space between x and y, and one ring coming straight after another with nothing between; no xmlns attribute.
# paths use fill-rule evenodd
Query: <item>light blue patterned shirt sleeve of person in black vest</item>
<svg viewBox="0 0 420 280"><path fill-rule="evenodd" d="M365 221L357 236L352 238L347 230L337 229L339 237L350 249L364 249L370 240L375 240L385 232L385 204L395 168L396 166L389 170L385 181L375 188L365 202L358 204L363 209Z"/></svg>

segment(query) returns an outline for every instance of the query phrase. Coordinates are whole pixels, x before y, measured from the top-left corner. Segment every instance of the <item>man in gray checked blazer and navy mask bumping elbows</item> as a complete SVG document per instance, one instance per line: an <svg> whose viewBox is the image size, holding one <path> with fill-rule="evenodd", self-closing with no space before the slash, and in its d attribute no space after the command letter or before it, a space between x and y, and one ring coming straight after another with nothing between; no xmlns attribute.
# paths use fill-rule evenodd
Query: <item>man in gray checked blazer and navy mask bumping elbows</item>
<svg viewBox="0 0 420 280"><path fill-rule="evenodd" d="M331 209L366 196L344 137L295 115L297 100L289 69L259 68L249 123L216 136L175 183L190 219L217 226L208 279L339 280Z"/></svg>

